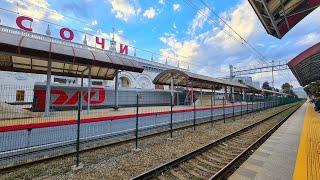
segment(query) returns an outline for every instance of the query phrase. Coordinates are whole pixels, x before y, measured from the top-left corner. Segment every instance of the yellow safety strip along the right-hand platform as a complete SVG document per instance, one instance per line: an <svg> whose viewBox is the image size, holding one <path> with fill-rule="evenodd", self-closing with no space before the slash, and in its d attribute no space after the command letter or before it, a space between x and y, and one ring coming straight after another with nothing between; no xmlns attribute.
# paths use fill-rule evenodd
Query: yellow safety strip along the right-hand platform
<svg viewBox="0 0 320 180"><path fill-rule="evenodd" d="M304 117L292 179L320 179L320 116L311 104L308 104Z"/></svg>

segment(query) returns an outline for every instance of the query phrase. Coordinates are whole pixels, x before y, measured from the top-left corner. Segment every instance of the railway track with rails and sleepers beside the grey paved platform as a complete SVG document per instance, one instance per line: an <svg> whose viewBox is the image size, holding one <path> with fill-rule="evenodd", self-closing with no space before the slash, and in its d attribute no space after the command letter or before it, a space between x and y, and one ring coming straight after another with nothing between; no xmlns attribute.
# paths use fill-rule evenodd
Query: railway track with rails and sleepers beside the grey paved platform
<svg viewBox="0 0 320 180"><path fill-rule="evenodd" d="M133 179L227 179L300 106L278 112Z"/></svg>

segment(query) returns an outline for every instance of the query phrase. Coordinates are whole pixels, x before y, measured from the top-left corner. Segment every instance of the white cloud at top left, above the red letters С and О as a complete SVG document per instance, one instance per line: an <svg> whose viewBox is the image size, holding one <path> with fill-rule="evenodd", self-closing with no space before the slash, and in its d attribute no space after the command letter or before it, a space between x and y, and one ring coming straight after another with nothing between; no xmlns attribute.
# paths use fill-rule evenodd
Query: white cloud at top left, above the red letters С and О
<svg viewBox="0 0 320 180"><path fill-rule="evenodd" d="M7 0L7 2L14 5L18 4L18 12L29 17L55 21L59 21L64 17L56 10L50 9L50 4L46 0Z"/></svg>

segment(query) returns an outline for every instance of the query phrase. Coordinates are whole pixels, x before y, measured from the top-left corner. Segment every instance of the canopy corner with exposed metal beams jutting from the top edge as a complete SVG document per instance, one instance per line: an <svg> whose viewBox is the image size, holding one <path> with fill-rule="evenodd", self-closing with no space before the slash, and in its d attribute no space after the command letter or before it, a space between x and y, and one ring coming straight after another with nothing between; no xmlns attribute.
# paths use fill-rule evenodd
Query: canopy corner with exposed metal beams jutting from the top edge
<svg viewBox="0 0 320 180"><path fill-rule="evenodd" d="M268 34L279 39L320 5L319 0L249 0L249 2Z"/></svg>

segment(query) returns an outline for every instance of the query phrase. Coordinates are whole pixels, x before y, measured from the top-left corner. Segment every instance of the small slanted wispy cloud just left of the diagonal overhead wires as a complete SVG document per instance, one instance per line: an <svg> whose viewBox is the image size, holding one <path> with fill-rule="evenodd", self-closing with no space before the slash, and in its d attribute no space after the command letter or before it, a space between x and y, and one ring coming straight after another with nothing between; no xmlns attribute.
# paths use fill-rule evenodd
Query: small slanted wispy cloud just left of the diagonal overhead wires
<svg viewBox="0 0 320 180"><path fill-rule="evenodd" d="M210 9L204 8L200 9L196 16L192 19L192 22L188 28L187 33L190 35L194 35L198 29L201 29L205 22L208 20L208 17L210 16Z"/></svg>

